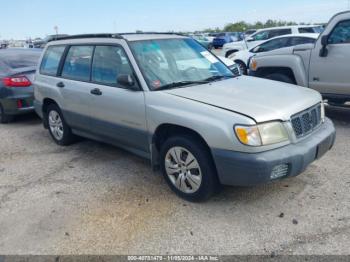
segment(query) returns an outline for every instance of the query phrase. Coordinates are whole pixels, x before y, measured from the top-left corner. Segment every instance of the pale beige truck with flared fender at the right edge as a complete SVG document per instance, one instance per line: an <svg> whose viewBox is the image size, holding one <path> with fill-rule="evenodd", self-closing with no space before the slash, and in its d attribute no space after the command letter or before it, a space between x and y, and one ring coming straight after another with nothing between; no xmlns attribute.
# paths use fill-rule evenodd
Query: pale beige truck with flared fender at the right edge
<svg viewBox="0 0 350 262"><path fill-rule="evenodd" d="M250 75L309 87L329 103L350 101L350 11L333 16L315 44L256 55Z"/></svg>

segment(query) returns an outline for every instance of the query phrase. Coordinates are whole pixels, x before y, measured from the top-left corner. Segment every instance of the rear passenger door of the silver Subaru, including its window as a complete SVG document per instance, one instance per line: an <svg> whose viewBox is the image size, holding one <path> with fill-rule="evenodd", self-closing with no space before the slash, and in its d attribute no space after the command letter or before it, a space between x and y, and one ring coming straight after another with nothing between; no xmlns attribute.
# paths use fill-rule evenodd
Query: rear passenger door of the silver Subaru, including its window
<svg viewBox="0 0 350 262"><path fill-rule="evenodd" d="M90 129L90 81L91 61L94 46L73 45L68 47L59 79L60 106L65 120L73 129Z"/></svg>

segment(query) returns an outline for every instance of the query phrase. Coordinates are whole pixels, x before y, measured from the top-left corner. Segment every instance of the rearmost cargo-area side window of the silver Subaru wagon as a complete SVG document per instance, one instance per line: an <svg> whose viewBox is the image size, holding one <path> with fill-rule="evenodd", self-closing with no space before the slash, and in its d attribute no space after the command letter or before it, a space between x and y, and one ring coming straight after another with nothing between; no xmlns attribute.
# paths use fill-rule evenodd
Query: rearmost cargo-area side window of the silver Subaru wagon
<svg viewBox="0 0 350 262"><path fill-rule="evenodd" d="M65 46L50 46L41 62L40 73L55 76L64 50Z"/></svg>

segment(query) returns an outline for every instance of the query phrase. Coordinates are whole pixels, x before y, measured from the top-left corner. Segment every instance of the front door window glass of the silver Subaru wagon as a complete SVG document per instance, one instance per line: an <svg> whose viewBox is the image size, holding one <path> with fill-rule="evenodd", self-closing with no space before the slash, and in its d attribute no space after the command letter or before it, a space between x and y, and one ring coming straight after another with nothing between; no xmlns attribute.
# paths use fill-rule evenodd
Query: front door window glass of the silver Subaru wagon
<svg viewBox="0 0 350 262"><path fill-rule="evenodd" d="M96 46L92 64L92 81L116 86L119 75L132 75L124 50L118 46Z"/></svg>

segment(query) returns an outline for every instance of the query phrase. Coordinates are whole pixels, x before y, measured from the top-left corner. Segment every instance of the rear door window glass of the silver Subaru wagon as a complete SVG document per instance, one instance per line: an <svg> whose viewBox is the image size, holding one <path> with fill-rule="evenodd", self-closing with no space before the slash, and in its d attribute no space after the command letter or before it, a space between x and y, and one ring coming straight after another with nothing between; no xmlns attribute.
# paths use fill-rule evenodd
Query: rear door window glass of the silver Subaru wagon
<svg viewBox="0 0 350 262"><path fill-rule="evenodd" d="M62 69L62 77L89 81L93 46L71 46Z"/></svg>

